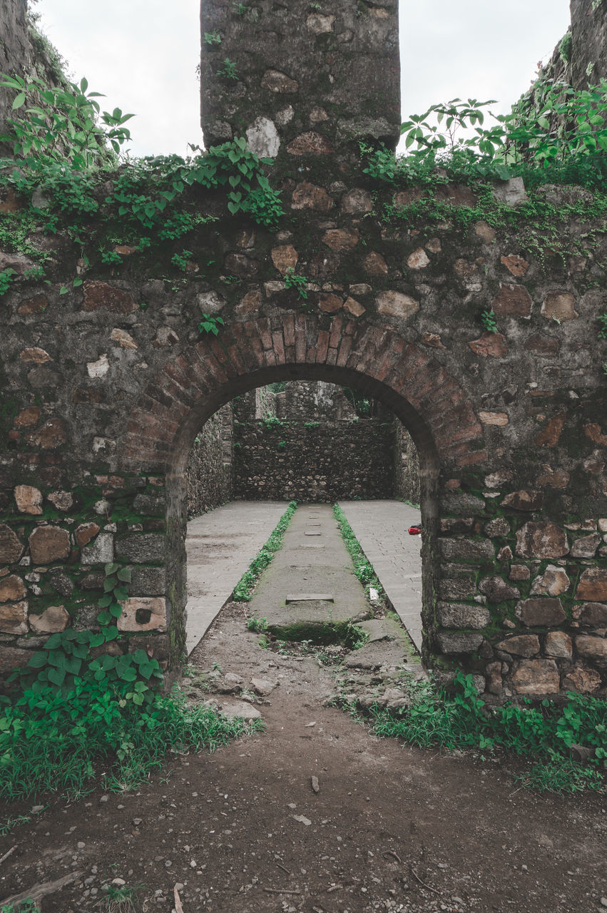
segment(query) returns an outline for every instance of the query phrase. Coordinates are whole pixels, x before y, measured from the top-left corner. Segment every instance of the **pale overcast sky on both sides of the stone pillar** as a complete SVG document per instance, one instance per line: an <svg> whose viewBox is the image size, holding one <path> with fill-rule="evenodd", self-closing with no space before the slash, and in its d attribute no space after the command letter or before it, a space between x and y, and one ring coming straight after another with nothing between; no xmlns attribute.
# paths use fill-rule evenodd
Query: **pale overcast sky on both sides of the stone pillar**
<svg viewBox="0 0 607 913"><path fill-rule="evenodd" d="M0 0L2 2L2 0ZM202 140L199 0L39 0L40 25L72 79L130 121L136 155ZM569 0L400 0L403 115L456 96L510 104L569 26Z"/></svg>

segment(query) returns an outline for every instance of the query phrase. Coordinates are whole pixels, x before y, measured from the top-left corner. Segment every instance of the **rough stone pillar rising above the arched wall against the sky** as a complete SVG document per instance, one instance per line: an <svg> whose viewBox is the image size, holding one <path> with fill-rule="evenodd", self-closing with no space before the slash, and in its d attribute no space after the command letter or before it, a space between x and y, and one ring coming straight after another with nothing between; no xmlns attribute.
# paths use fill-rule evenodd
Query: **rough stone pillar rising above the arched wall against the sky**
<svg viewBox="0 0 607 913"><path fill-rule="evenodd" d="M260 157L392 148L401 122L398 2L202 0L202 126L207 147L247 137Z"/></svg>

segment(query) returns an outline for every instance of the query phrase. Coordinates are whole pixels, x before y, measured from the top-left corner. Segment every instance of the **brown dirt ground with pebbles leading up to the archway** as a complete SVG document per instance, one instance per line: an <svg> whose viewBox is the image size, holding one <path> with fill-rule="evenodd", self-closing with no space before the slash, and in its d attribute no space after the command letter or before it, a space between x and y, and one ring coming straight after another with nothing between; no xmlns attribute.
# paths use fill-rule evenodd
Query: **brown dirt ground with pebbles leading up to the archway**
<svg viewBox="0 0 607 913"><path fill-rule="evenodd" d="M15 847L0 897L71 872L43 913L106 909L114 878L141 886L135 908L149 913L175 909L175 885L183 913L605 909L607 796L534 794L515 762L373 738L324 706L330 666L258 639L228 603L192 660L223 680L277 680L249 705L265 732L173 756L137 792L51 797L0 838L0 857Z"/></svg>

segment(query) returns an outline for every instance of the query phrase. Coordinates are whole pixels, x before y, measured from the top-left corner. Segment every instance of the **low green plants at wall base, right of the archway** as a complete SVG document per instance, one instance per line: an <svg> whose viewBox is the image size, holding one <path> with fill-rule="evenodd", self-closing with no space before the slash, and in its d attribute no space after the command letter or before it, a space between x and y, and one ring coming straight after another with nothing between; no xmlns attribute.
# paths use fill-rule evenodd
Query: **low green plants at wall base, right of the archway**
<svg viewBox="0 0 607 913"><path fill-rule="evenodd" d="M497 748L539 759L524 778L527 785L556 792L575 792L583 786L604 789L607 768L607 702L587 695L568 693L568 703L557 708L549 700L533 707L529 698L522 706L490 707L479 697L473 677L458 672L455 695L436 692L431 681L405 682L410 698L395 714L372 711L373 731L378 736L397 736L420 747L441 745L449 750L476 747ZM571 745L591 749L591 769L570 760Z"/></svg>

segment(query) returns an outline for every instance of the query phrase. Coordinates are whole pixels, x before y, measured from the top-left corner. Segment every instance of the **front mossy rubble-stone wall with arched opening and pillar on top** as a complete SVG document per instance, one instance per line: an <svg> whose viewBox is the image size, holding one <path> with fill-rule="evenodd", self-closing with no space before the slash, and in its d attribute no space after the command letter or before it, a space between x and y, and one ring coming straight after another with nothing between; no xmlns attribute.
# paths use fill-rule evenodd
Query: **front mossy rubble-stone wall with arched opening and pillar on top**
<svg viewBox="0 0 607 913"><path fill-rule="evenodd" d="M205 142L245 135L272 155L287 215L274 233L229 215L215 190L184 194L219 221L188 237L194 267L177 290L144 256L83 267L65 235L32 234L50 285L0 253L17 274L0 298L2 671L51 632L94 628L105 561L133 572L112 648L179 666L194 437L236 395L303 380L361 391L413 437L425 663L483 676L497 699L604 695L607 240L600 215L580 215L591 194L536 192L575 204L571 250L589 239L587 254L558 257L474 217L483 194L524 203L519 180L395 193L361 171L361 140L393 148L399 134L396 0L334 0L330 13L256 0L243 16L208 0L202 20L222 37L203 42ZM225 58L236 79L220 75ZM432 194L471 217L380 215ZM211 259L221 273L196 272ZM288 268L307 278L306 302ZM478 320L490 308L495 333ZM196 330L211 309L217 338Z"/></svg>

